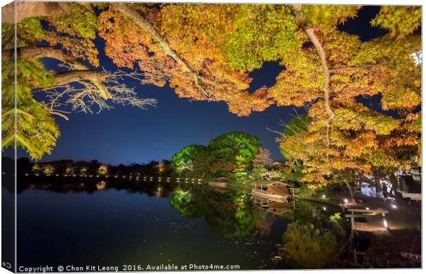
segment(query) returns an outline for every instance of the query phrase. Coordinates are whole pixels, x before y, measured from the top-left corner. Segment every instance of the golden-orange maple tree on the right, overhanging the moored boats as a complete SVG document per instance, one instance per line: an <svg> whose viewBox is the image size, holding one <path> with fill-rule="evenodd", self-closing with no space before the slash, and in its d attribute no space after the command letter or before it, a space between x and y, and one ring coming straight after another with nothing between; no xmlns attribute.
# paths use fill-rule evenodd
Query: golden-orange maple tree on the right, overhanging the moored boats
<svg viewBox="0 0 426 274"><path fill-rule="evenodd" d="M418 8L401 7L394 13L385 8L372 23L397 22L386 28L394 28L398 38L390 33L364 43L337 30L338 23L356 15L357 7L293 5L292 10L305 35L302 41L312 46L298 49L307 58L298 61L304 66L298 70L291 67L294 60L282 58L286 70L269 92L277 104L309 106L311 121L300 119L300 130L288 126L286 130L296 132L279 139L290 163L303 165L302 181L314 187L354 181L378 166L392 172L419 161L421 135L409 126L414 117L420 122L416 112L421 103L420 66L410 58L420 50L420 36L411 35L420 22ZM387 16L394 16L389 19L393 23ZM380 102L379 110L359 101L373 96ZM389 110L398 115L386 115Z"/></svg>

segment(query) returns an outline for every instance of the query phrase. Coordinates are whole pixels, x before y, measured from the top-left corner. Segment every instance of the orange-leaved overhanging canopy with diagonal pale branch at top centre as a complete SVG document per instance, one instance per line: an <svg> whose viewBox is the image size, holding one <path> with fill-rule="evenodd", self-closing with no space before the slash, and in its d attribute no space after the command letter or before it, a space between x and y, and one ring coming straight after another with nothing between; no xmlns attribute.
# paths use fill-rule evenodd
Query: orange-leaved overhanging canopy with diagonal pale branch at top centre
<svg viewBox="0 0 426 274"><path fill-rule="evenodd" d="M106 55L120 67L144 71L143 83L166 83L182 98L225 101L229 111L248 115L270 102L265 88L246 91L247 73L227 63L224 43L238 5L146 5L111 3L100 14Z"/></svg>

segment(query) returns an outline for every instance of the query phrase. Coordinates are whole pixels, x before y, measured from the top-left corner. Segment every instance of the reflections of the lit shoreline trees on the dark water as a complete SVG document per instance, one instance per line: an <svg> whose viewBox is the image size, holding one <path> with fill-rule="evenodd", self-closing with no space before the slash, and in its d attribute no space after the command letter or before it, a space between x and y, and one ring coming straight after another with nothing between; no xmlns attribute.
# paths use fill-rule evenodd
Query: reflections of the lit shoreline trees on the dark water
<svg viewBox="0 0 426 274"><path fill-rule="evenodd" d="M295 209L268 212L254 205L249 189L227 187L225 191L213 190L208 185L192 183L150 183L146 181L119 181L93 179L31 179L21 185L25 188L54 192L125 190L130 193L145 193L170 200L170 206L186 218L202 217L211 231L235 242L244 244L268 242L285 260L272 260L276 267L282 264L292 268L318 269L333 266L341 242L347 240L343 220L336 211L323 205L298 201ZM293 204L291 204L293 207ZM330 218L332 217L332 218ZM262 249L260 244L257 252ZM271 254L271 253L269 253ZM272 258L270 258L272 259ZM268 260L265 258L265 260ZM266 263L266 262L265 262Z"/></svg>

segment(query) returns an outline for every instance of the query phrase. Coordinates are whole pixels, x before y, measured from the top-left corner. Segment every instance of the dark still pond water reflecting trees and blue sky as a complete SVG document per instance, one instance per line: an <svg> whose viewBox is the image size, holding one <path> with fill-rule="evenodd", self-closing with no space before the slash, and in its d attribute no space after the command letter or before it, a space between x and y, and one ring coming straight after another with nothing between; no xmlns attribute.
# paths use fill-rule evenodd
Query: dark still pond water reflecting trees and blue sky
<svg viewBox="0 0 426 274"><path fill-rule="evenodd" d="M343 235L335 212L309 202L268 212L240 187L29 183L17 195L17 265L327 267Z"/></svg>

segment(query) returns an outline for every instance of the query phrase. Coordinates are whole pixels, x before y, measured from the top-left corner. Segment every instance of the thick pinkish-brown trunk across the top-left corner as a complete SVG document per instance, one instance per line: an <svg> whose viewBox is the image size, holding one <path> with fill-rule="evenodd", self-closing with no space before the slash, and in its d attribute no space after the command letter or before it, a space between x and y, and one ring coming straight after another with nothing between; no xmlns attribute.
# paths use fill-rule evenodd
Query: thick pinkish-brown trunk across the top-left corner
<svg viewBox="0 0 426 274"><path fill-rule="evenodd" d="M15 10L16 3L16 10ZM69 3L66 2L27 2L17 1L9 3L1 8L1 22L15 23L14 14L16 11L16 23L34 16L59 16L71 11Z"/></svg>

